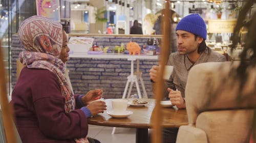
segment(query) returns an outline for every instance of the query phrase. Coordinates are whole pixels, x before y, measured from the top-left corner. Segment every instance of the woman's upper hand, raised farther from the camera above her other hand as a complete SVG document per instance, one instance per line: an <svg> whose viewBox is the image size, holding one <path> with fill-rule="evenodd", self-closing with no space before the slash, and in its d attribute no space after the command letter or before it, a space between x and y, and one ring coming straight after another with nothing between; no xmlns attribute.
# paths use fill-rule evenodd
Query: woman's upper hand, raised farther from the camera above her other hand
<svg viewBox="0 0 256 143"><path fill-rule="evenodd" d="M98 90L89 91L86 95L84 95L81 98L81 100L83 104L88 104L89 102L100 99L102 97L103 97L102 90L98 89Z"/></svg>

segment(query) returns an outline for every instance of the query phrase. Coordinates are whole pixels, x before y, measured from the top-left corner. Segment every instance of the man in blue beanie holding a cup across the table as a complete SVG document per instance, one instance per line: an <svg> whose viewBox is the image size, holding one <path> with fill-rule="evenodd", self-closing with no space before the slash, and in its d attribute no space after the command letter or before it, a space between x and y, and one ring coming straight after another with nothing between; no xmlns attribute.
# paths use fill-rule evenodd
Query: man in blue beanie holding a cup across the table
<svg viewBox="0 0 256 143"><path fill-rule="evenodd" d="M189 14L181 19L176 27L177 52L171 53L167 65L174 66L169 80L165 82L164 95L178 108L186 108L185 87L189 70L201 63L224 62L224 55L212 51L206 46L206 24L199 14ZM154 65L150 70L153 92L159 66ZM163 141L176 142L177 129L164 129Z"/></svg>

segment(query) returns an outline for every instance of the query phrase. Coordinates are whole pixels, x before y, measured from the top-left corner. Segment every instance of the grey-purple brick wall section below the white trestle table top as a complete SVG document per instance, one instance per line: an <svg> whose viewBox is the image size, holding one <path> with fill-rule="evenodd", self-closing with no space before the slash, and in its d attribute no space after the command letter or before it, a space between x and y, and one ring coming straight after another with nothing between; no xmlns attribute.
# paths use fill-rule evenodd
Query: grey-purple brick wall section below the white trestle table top
<svg viewBox="0 0 256 143"><path fill-rule="evenodd" d="M157 62L140 60L140 70L149 97L152 97L152 90L148 73L153 64ZM103 89L105 98L121 98L127 76L131 72L131 61L71 58L67 68L70 70L69 76L75 93L84 94L89 89L100 88ZM134 93L137 93L135 83L132 90L132 94Z"/></svg>

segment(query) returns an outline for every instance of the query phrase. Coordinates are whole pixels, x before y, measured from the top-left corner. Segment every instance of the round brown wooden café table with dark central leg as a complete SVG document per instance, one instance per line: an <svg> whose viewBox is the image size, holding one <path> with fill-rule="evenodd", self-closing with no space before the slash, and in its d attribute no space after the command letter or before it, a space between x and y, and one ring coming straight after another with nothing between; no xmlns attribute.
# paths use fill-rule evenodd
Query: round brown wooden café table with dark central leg
<svg viewBox="0 0 256 143"><path fill-rule="evenodd" d="M132 101L133 99L126 99ZM128 106L127 110L133 111L133 114L128 118L112 118L106 111L99 113L98 115L88 118L88 123L98 126L109 127L124 127L124 128L136 128L136 142L147 142L147 129L152 128L151 115L154 112L155 99L138 99L140 101L147 101L145 106ZM112 109L112 99L104 100L107 109ZM174 107L163 107L163 128L179 128L181 125L188 125L187 113L185 109L177 109Z"/></svg>

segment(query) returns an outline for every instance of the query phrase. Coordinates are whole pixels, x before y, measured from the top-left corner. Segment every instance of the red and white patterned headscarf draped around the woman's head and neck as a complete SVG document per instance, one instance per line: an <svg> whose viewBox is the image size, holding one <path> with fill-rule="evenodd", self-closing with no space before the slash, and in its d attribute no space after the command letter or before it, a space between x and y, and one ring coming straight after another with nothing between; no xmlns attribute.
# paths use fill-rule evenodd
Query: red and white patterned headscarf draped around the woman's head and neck
<svg viewBox="0 0 256 143"><path fill-rule="evenodd" d="M65 98L65 111L75 109L75 99L64 76L66 66L59 59L63 33L62 25L43 16L32 16L19 27L18 37L25 51L19 53L19 60L28 68L47 69L58 77L62 96ZM87 138L76 142L89 142Z"/></svg>

